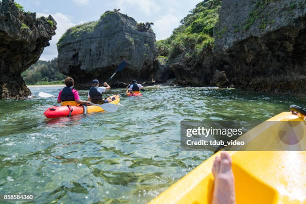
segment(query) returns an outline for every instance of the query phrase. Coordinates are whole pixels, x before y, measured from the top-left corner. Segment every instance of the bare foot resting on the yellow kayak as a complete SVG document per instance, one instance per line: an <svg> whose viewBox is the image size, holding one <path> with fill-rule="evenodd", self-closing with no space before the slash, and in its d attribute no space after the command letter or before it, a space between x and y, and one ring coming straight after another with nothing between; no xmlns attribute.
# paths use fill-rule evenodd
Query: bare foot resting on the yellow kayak
<svg viewBox="0 0 306 204"><path fill-rule="evenodd" d="M212 204L234 204L235 186L231 170L231 158L227 152L216 156L212 165L214 189Z"/></svg>

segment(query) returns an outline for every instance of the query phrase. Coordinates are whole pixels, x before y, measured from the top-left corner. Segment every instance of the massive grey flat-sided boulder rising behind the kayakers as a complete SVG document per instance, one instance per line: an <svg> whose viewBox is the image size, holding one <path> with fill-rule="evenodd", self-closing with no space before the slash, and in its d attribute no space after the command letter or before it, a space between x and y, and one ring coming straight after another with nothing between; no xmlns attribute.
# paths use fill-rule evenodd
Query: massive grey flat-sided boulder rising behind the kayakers
<svg viewBox="0 0 306 204"><path fill-rule="evenodd" d="M87 87L93 78L105 81L122 60L128 66L110 84L151 80L157 53L151 28L117 11L69 28L57 49L60 72L73 77L78 87Z"/></svg>

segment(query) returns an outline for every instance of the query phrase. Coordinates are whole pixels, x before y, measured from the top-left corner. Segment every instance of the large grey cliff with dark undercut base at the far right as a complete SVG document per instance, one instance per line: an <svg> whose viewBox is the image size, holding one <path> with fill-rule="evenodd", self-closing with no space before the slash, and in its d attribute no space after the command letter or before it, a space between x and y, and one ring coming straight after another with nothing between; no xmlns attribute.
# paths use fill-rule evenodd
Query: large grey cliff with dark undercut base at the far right
<svg viewBox="0 0 306 204"><path fill-rule="evenodd" d="M223 0L214 37L235 87L306 92L304 0Z"/></svg>

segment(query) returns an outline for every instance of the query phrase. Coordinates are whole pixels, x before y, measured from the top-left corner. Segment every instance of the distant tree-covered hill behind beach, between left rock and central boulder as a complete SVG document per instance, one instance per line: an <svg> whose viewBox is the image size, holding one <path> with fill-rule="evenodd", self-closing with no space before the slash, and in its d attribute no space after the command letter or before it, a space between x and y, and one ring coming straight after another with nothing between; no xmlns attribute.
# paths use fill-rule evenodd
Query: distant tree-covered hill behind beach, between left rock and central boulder
<svg viewBox="0 0 306 204"><path fill-rule="evenodd" d="M27 84L61 83L65 76L58 71L56 60L56 58L50 61L38 60L21 75Z"/></svg>

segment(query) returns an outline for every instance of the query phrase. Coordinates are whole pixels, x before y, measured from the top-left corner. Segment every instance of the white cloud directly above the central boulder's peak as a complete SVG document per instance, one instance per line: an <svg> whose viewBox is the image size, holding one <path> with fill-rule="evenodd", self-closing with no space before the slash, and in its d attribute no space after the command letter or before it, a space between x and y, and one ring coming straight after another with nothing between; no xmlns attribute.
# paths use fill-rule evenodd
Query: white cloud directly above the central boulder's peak
<svg viewBox="0 0 306 204"><path fill-rule="evenodd" d="M154 2L154 0L116 0L115 3L120 9L136 6L140 11L147 15L160 10L160 7Z"/></svg>

